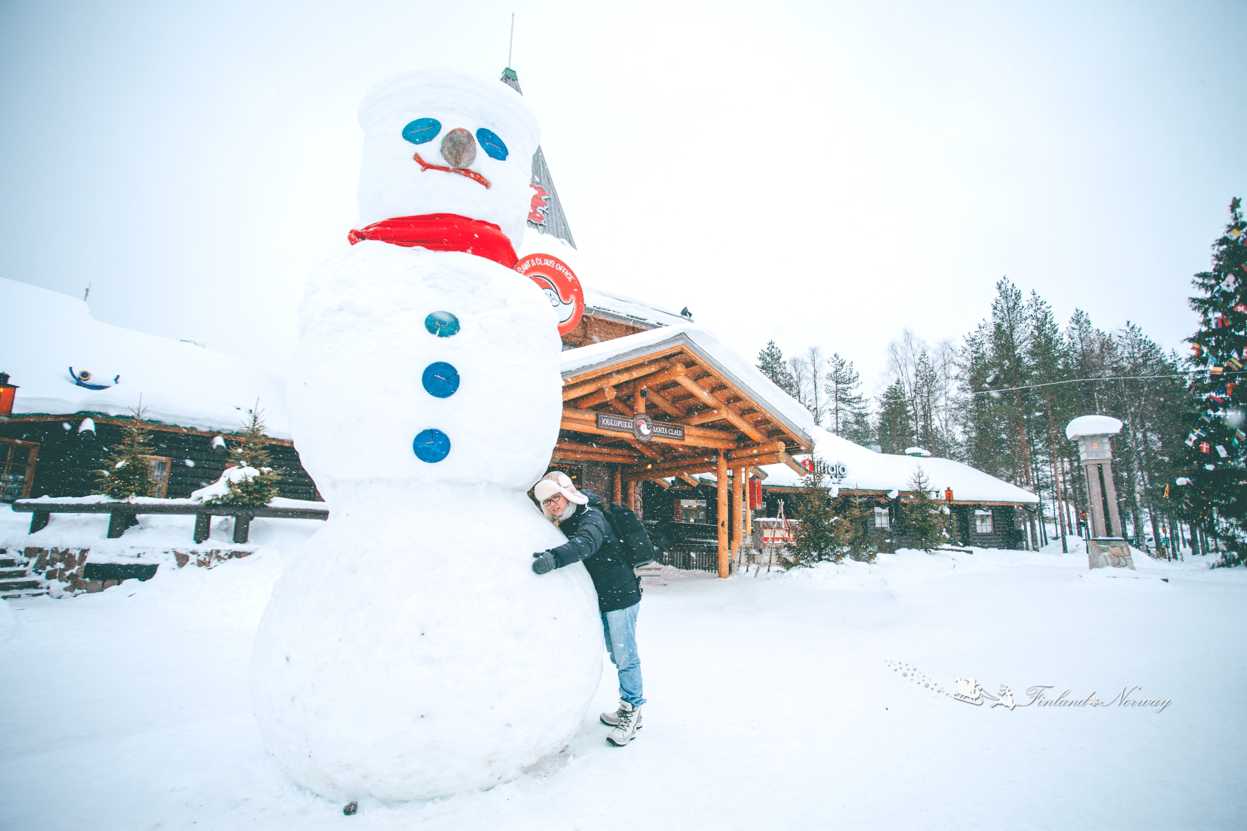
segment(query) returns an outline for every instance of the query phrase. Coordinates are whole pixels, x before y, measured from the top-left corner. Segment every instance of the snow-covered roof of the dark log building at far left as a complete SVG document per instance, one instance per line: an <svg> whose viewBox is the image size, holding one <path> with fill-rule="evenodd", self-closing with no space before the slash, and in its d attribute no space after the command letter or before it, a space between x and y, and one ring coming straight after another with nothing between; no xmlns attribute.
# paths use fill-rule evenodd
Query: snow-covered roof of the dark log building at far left
<svg viewBox="0 0 1247 831"><path fill-rule="evenodd" d="M289 439L286 379L241 358L193 344L100 323L86 303L0 278L0 371L17 390L12 414L100 412L128 416L142 404L147 419L196 430L237 431L247 410L264 411L268 435ZM89 390L75 373L91 373Z"/></svg>

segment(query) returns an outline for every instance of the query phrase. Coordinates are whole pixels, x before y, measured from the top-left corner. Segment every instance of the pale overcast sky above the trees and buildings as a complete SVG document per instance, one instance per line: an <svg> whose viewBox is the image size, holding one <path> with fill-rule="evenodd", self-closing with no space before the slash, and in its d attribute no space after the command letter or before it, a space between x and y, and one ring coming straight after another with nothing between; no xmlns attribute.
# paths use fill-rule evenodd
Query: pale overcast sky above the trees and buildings
<svg viewBox="0 0 1247 831"><path fill-rule="evenodd" d="M358 219L360 96L496 77L511 11L581 278L751 358L839 351L869 392L903 328L959 340L1003 275L1181 346L1247 196L1242 0L7 1L0 275L283 366Z"/></svg>

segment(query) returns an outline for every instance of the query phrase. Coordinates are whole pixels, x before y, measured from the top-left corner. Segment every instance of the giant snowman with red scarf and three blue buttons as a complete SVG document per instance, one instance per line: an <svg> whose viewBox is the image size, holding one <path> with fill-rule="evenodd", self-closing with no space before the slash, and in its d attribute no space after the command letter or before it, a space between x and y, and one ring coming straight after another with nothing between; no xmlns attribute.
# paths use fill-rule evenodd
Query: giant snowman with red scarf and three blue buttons
<svg viewBox="0 0 1247 831"><path fill-rule="evenodd" d="M277 764L338 800L429 799L557 753L601 678L596 596L525 491L562 399L557 320L511 270L539 132L510 87L373 87L353 247L315 270L287 387L329 521L273 588L251 694Z"/></svg>

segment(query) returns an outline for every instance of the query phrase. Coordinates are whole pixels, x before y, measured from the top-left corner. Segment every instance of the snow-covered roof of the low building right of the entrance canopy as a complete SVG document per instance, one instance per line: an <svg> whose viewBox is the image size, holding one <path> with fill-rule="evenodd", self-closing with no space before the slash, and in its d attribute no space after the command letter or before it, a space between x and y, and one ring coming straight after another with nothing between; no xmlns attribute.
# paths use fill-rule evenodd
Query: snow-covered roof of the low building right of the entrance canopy
<svg viewBox="0 0 1247 831"><path fill-rule="evenodd" d="M955 462L951 458L897 456L877 453L848 439L813 427L814 456L826 462L844 462L845 475L840 487L855 491L908 491L909 480L919 467L930 481L933 491L953 490L958 502L1004 502L1035 505L1039 497L990 473ZM801 458L801 457L798 457ZM767 465L767 487L799 487L802 478L786 465ZM831 485L831 480L827 480Z"/></svg>

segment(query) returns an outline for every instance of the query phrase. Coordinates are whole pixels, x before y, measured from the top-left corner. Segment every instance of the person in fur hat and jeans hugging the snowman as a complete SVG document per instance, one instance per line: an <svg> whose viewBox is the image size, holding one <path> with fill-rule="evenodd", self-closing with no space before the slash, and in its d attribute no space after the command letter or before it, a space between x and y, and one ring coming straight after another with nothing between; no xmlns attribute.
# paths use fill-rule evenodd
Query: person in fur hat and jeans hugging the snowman
<svg viewBox="0 0 1247 831"><path fill-rule="evenodd" d="M546 574L576 562L597 589L597 609L602 614L606 652L619 672L620 704L614 713L599 716L612 728L606 741L622 748L641 729L641 657L636 650L636 614L641 608L641 587L632 566L624 558L602 502L590 490L576 490L566 473L551 471L532 488L541 512L567 534L564 544L532 554L532 571Z"/></svg>

